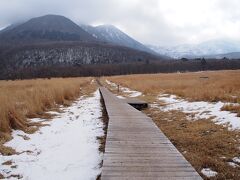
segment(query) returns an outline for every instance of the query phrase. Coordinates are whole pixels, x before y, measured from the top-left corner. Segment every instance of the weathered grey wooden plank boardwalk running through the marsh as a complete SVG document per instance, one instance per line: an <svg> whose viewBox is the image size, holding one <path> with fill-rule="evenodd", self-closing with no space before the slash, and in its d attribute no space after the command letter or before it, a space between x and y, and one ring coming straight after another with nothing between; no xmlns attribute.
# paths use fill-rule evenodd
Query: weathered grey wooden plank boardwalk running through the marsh
<svg viewBox="0 0 240 180"><path fill-rule="evenodd" d="M100 92L109 117L102 180L202 179L151 118Z"/></svg>

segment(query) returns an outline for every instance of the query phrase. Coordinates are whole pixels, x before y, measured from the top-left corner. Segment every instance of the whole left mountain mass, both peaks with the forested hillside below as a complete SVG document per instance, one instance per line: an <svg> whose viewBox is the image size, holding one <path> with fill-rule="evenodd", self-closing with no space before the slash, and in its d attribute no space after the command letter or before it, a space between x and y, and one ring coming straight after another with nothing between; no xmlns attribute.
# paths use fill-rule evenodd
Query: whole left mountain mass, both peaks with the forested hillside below
<svg viewBox="0 0 240 180"><path fill-rule="evenodd" d="M58 15L33 18L3 29L0 31L0 79L11 77L17 71L31 74L32 68L41 72L41 68L81 69L93 64L148 64L165 58L143 51L143 45L112 26L96 29L101 36Z"/></svg>

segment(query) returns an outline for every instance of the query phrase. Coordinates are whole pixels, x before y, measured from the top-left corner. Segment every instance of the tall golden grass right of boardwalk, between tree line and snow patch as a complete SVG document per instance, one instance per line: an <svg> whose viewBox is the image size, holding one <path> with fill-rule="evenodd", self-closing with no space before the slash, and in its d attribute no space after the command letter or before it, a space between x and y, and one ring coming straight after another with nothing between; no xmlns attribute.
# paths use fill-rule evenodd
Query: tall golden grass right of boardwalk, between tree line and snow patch
<svg viewBox="0 0 240 180"><path fill-rule="evenodd" d="M105 79L144 94L162 92L190 100L240 103L240 70L113 76Z"/></svg>

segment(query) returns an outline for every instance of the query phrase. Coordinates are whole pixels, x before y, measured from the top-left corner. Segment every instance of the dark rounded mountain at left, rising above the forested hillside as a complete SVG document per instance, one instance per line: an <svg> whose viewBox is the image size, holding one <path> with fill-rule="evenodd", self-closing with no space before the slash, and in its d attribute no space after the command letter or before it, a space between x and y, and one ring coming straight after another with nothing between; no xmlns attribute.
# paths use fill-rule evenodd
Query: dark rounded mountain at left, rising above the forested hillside
<svg viewBox="0 0 240 180"><path fill-rule="evenodd" d="M97 41L70 19L46 15L30 19L20 25L11 25L0 33L3 44L39 43L48 41Z"/></svg>

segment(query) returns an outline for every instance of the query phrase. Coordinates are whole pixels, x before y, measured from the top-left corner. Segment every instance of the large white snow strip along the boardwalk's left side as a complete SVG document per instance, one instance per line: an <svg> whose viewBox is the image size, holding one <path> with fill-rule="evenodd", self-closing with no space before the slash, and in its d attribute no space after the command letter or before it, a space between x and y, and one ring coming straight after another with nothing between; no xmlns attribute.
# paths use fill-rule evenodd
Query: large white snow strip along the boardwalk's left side
<svg viewBox="0 0 240 180"><path fill-rule="evenodd" d="M96 91L93 97L81 97L62 110L63 113L56 113L53 120L47 121L49 126L34 134L13 132L13 140L6 145L20 154L0 155L1 174L5 177L19 174L29 180L96 179L101 173L103 156L96 138L104 135L100 94ZM22 135L30 139L24 140ZM12 161L13 167L2 165L6 161Z"/></svg>

